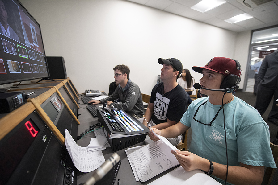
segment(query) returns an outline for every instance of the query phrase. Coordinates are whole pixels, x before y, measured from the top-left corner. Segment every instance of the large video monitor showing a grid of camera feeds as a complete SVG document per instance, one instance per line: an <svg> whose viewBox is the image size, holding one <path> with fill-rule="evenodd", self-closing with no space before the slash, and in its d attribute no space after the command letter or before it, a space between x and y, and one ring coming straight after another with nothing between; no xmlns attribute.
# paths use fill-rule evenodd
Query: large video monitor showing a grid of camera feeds
<svg viewBox="0 0 278 185"><path fill-rule="evenodd" d="M17 0L0 0L0 85L49 77L40 24Z"/></svg>

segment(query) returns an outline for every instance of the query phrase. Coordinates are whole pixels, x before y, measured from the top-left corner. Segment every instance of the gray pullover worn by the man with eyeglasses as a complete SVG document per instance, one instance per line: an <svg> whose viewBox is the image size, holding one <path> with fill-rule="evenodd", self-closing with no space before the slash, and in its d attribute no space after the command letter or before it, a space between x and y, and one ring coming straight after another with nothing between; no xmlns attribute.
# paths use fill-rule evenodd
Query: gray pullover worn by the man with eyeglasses
<svg viewBox="0 0 278 185"><path fill-rule="evenodd" d="M138 117L143 117L144 106L140 88L137 84L128 79L125 90L120 85L116 88L115 92L109 97L101 99L100 102L104 103L111 100L120 98L120 103L111 103L115 108L123 109L128 114L135 114Z"/></svg>

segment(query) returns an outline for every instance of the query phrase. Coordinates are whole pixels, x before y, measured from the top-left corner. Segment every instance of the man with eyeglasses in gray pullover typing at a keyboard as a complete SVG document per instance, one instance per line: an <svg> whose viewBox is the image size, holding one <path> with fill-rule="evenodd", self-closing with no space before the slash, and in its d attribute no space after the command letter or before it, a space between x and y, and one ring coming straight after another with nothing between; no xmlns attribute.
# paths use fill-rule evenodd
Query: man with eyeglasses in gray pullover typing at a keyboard
<svg viewBox="0 0 278 185"><path fill-rule="evenodd" d="M116 65L114 78L119 84L113 94L101 100L91 100L88 104L100 104L106 102L108 106L120 108L137 118L144 115L144 106L140 88L129 79L129 67L126 65ZM121 102L114 103L112 100L120 98Z"/></svg>

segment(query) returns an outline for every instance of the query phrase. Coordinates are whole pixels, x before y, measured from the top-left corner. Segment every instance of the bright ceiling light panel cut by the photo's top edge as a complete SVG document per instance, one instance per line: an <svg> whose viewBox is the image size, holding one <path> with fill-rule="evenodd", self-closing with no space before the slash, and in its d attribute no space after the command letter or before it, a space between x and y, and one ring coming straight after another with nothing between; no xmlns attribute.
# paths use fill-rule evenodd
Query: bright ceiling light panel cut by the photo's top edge
<svg viewBox="0 0 278 185"><path fill-rule="evenodd" d="M226 3L224 0L203 0L192 6L191 9L204 13L224 3Z"/></svg>

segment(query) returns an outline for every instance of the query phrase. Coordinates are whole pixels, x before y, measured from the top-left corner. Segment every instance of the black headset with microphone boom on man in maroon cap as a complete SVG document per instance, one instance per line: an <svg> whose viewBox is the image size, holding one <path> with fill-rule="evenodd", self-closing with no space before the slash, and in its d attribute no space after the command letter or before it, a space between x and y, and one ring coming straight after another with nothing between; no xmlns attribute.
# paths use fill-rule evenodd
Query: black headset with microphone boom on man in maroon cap
<svg viewBox="0 0 278 185"><path fill-rule="evenodd" d="M232 59L235 61L236 65L237 65L237 69L240 70L239 76L237 75L228 75L224 78L224 80L222 81L221 85L220 85L220 89L208 89L208 88L203 88L199 83L195 83L193 85L193 87L195 89L205 89L208 91L223 91L223 92L227 92L227 93L231 93L233 92L235 89L238 89L239 86L239 82L241 80L240 76L241 76L241 69L240 69L240 64L237 60Z"/></svg>

